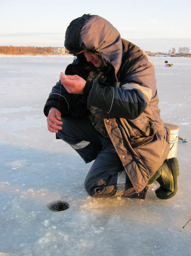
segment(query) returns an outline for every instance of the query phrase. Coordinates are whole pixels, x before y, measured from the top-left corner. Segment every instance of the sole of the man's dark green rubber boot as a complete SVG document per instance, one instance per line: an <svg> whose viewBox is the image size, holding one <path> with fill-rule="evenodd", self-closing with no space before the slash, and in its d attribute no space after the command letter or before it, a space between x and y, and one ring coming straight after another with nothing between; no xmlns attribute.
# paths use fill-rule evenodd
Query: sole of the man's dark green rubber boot
<svg viewBox="0 0 191 256"><path fill-rule="evenodd" d="M173 161L171 159L169 159L170 161L170 165L171 165L171 170L172 170L172 175L173 175L173 180L174 180L174 191L172 192L172 194L170 194L169 196L165 195L165 193L163 193L163 195L160 195L160 193L157 195L157 192L159 192L160 190L162 190L162 188L157 188L155 190L155 193L157 195L158 198L160 199L169 199L172 198L174 195L176 195L176 192L178 190L178 175L179 175L179 165L178 165L178 160L175 158Z"/></svg>

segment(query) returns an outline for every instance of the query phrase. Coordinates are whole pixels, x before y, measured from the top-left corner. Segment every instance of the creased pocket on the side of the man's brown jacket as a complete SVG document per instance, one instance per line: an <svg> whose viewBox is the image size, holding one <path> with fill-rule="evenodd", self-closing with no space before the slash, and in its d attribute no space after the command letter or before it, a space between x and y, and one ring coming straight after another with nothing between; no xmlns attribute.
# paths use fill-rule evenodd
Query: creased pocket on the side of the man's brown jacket
<svg viewBox="0 0 191 256"><path fill-rule="evenodd" d="M138 130L130 137L132 147L140 147L150 142L154 138L156 132L157 129L155 129L154 124L151 120L148 120L142 130Z"/></svg>

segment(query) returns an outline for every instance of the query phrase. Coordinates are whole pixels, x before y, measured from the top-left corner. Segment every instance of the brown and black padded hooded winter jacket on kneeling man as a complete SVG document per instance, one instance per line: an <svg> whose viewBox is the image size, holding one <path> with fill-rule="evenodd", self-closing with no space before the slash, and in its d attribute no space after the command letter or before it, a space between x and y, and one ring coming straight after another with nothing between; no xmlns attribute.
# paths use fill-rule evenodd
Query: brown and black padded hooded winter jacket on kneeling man
<svg viewBox="0 0 191 256"><path fill-rule="evenodd" d="M100 56L105 66L88 79L83 95L69 94L58 82L44 113L47 116L49 109L56 107L62 117L85 117L89 113L87 105L102 109L105 128L136 197L169 152L168 129L160 118L153 63L144 51L121 39L116 28L97 15L73 20L66 30L65 47L77 57L65 74L78 74L87 81L94 66L87 63L83 50Z"/></svg>

